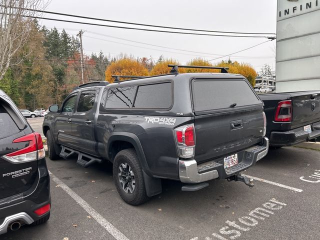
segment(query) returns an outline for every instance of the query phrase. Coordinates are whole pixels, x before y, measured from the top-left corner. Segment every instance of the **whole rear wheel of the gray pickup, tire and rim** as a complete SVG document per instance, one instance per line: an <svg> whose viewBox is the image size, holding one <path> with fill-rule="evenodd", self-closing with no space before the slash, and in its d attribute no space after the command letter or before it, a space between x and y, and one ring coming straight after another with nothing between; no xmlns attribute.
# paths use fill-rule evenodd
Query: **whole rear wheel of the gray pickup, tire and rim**
<svg viewBox="0 0 320 240"><path fill-rule="evenodd" d="M119 151L113 161L113 179L121 198L131 204L145 202L146 195L142 167L133 148Z"/></svg>

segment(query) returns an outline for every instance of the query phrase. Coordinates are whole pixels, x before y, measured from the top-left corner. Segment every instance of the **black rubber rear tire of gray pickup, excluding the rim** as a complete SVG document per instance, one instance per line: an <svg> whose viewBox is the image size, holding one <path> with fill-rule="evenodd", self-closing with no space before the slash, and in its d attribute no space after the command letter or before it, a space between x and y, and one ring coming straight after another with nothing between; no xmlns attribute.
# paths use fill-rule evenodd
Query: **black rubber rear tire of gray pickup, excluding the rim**
<svg viewBox="0 0 320 240"><path fill-rule="evenodd" d="M130 194L127 193L120 184L118 169L121 163L128 164L134 174L135 187ZM139 205L148 199L145 191L142 167L133 148L121 150L116 154L113 161L113 179L116 190L125 202L131 205Z"/></svg>

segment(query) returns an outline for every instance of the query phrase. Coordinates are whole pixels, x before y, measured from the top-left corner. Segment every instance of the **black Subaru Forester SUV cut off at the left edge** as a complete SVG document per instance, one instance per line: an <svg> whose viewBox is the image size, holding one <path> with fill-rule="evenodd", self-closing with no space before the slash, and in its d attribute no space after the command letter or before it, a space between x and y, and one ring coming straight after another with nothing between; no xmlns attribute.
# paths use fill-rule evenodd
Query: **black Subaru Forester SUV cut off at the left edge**
<svg viewBox="0 0 320 240"><path fill-rule="evenodd" d="M50 216L49 173L41 135L0 90L0 234Z"/></svg>

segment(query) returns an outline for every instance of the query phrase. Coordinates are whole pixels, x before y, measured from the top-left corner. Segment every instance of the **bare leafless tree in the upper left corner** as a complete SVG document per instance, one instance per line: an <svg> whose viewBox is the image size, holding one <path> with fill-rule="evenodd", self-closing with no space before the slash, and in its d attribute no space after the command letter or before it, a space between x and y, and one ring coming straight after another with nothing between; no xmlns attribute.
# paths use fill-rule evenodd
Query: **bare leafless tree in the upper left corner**
<svg viewBox="0 0 320 240"><path fill-rule="evenodd" d="M10 65L20 62L12 57L28 40L33 17L40 14L34 10L44 9L45 4L43 0L1 0L0 80Z"/></svg>

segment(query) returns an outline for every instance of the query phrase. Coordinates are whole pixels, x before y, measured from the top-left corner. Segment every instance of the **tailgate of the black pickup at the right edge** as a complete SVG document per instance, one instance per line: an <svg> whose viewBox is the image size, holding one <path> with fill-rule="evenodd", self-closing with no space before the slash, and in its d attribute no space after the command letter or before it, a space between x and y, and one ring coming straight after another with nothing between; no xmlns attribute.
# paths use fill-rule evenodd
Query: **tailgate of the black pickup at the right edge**
<svg viewBox="0 0 320 240"><path fill-rule="evenodd" d="M291 129L320 120L320 91L293 92Z"/></svg>

